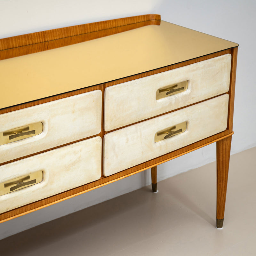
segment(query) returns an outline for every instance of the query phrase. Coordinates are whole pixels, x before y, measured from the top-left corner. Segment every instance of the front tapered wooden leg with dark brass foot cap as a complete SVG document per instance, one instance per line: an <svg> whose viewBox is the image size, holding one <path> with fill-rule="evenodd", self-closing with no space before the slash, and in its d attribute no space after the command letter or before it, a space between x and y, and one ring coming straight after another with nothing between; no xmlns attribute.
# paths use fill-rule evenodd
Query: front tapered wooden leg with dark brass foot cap
<svg viewBox="0 0 256 256"><path fill-rule="evenodd" d="M217 214L216 228L222 228L228 184L228 167L232 136L217 141Z"/></svg>

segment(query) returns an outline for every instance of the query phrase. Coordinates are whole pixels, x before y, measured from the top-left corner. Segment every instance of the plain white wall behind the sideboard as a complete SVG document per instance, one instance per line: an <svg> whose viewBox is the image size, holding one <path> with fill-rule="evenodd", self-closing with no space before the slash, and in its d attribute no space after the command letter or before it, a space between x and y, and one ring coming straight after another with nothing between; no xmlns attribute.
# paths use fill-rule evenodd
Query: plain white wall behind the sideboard
<svg viewBox="0 0 256 256"><path fill-rule="evenodd" d="M0 0L0 38L147 13L161 14L162 20L240 44L231 153L255 147L255 0ZM214 160L215 144L212 144L160 165L158 180ZM145 171L4 222L0 224L0 239L150 183L149 171Z"/></svg>

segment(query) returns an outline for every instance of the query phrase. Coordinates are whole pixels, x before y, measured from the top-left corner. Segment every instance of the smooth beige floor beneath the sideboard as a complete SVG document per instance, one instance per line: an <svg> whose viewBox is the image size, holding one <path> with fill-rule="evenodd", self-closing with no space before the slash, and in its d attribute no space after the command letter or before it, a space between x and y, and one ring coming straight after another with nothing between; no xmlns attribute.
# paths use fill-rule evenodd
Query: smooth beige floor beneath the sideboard
<svg viewBox="0 0 256 256"><path fill-rule="evenodd" d="M224 228L215 164L0 241L0 255L256 255L256 148L231 156Z"/></svg>

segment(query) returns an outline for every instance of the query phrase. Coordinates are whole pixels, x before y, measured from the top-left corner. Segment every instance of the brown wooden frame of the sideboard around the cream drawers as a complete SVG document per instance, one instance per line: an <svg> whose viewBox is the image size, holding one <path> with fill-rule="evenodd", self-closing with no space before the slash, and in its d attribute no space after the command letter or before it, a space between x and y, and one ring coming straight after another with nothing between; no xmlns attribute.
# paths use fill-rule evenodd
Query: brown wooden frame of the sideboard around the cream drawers
<svg viewBox="0 0 256 256"><path fill-rule="evenodd" d="M139 28L141 26L152 25L152 24L155 24L155 25L160 24L160 15L156 15L156 14L141 15L141 16L135 16L135 17L129 17L129 18L123 18L123 19L108 20L108 21L72 26L72 27L67 27L67 28L47 30L47 31L43 31L43 32L36 32L36 33L31 33L31 34L22 35L22 36L13 36L10 38L4 38L4 39L0 39L0 60L17 57L17 56L21 56L21 55L25 55L25 54L30 54L30 53L34 53L34 52L40 52L40 51L45 51L45 50L49 50L49 49L54 49L54 48L58 48L58 47L62 47L62 46L70 45L70 44L76 44L79 42L84 42L84 41L92 40L92 39L99 38L102 36L107 36L107 35L123 32L123 31L127 31L127 30L130 30L133 28ZM186 147L172 151L163 156L156 157L155 159L149 160L145 163L138 164L136 166L133 166L132 168L126 169L124 171L118 172L118 173L113 174L108 177L103 176L103 170L102 170L102 177L100 178L100 180L96 180L94 182L85 184L83 186L70 189L70 190L62 192L60 194L50 196L48 198L39 200L37 202L33 202L31 204L27 204L27 205L21 206L19 208L16 208L16 209L13 209L8 212L4 212L4 213L0 214L0 223L7 221L7 220L14 219L14 218L22 216L22 215L25 215L29 212L34 212L36 210L47 207L49 205L56 204L58 202L66 200L68 198L78 196L87 191L102 187L104 185L107 185L107 184L115 182L117 180L126 178L126 177L136 174L138 172L142 172L146 169L153 168L153 167L157 166L158 164L162 164L162 163L172 160L176 157L179 157L179 156L187 154L191 151L194 151L198 148L202 148L206 145L209 145L213 142L217 142L217 173L219 173L219 175L217 174L217 180L218 180L218 182L217 182L217 219L222 220L223 216L224 216L224 209L225 209L226 188L227 188L226 183L227 183L227 177L228 177L227 174L228 174L228 163L229 163L229 155L230 155L231 137L232 137L232 134L234 133L232 129L233 129L233 111L234 111L235 80L236 80L237 47L223 50L220 52L215 52L212 54L208 54L208 55L201 56L201 57L198 57L198 58L195 58L192 60L173 64L173 65L166 66L163 68L158 68L158 69L144 72L141 74L137 74L134 76L124 77L124 78L121 78L121 79L118 79L115 81L111 81L108 83L99 84L99 85L95 85L95 86L91 86L91 87L86 87L83 89L63 93L60 95L55 95L55 96L44 98L41 100L35 100L35 101L27 102L27 103L24 103L21 105L0 109L0 114L3 114L3 113L18 110L18 109L35 106L38 104L43 104L45 102L49 102L52 100L58 100L58 99L73 96L76 94L90 92L90 91L93 91L96 89L101 90L103 93L102 95L104 95L104 90L108 86L111 86L114 84L119 84L119 83L124 83L127 81L131 81L131 80L138 79L138 78L145 77L145 76L150 76L150 75L157 74L157 73L161 73L161 72L164 72L167 70L179 68L182 66L186 66L186 65L189 65L192 63L207 60L207 59L214 58L214 57L228 54L228 53L231 54L232 60L231 60L230 89L228 91L228 94L229 94L228 125L227 125L227 129L225 131L215 134L213 136L210 136L204 140L197 141L196 143L190 144ZM191 104L191 105L194 105L194 104ZM189 105L189 106L191 106L191 105ZM103 109L103 106L104 106L104 97L102 97L102 109ZM185 107L188 107L188 106L185 106ZM175 109L175 111L176 110L177 109ZM169 111L166 113L170 113L173 111ZM166 114L166 113L164 113L164 114ZM164 114L161 114L158 116L162 116ZM108 133L108 132L104 131L104 128L103 128L103 120L104 120L103 115L104 115L104 111L102 111L101 132L97 135L94 135L94 136L91 136L88 138L92 138L95 136L101 136L101 138L103 138L104 135L106 133ZM156 117L156 116L154 116L154 117ZM152 117L152 118L154 118L154 117ZM148 119L151 119L151 118L148 118ZM145 121L145 120L142 120L142 121ZM142 121L140 121L140 122L142 122ZM137 122L137 123L139 123L139 122ZM136 124L136 123L134 123L134 124ZM124 127L126 127L126 126L124 126ZM109 132L112 132L112 131L109 131ZM85 140L88 138L84 138L82 140ZM73 141L71 143L67 143L67 144L64 144L64 145L61 145L61 146L58 146L55 148L60 148L60 147L63 147L63 146L66 146L66 145L69 145L69 144L72 144L72 143L75 143L78 141L81 141L81 140ZM43 152L46 152L46 151L49 151L49 150L52 150L55 148L50 148L50 149L47 149L47 150L44 150L41 152L37 152L35 154L31 154L29 156L34 156L34 155L37 155L37 154L40 154L40 153L43 153ZM17 159L14 159L12 161L8 161L8 162L2 163L2 164L11 163L11 162L23 159L23 158L27 158L29 156L20 157L20 158L17 158ZM227 159L228 159L228 161L227 161ZM223 167L224 162L226 163L225 168ZM0 164L0 165L2 165L2 164ZM102 167L102 169L103 169L103 167ZM218 171L218 169L219 169L219 171Z"/></svg>

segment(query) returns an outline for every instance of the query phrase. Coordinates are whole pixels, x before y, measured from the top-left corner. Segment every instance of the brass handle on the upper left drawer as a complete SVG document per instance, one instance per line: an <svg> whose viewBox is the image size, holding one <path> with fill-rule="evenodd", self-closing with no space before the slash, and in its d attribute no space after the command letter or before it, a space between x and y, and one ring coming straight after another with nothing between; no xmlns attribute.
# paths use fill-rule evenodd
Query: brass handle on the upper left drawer
<svg viewBox="0 0 256 256"><path fill-rule="evenodd" d="M43 123L38 122L29 124L5 132L0 132L0 145L8 144L13 141L23 140L43 132Z"/></svg>

